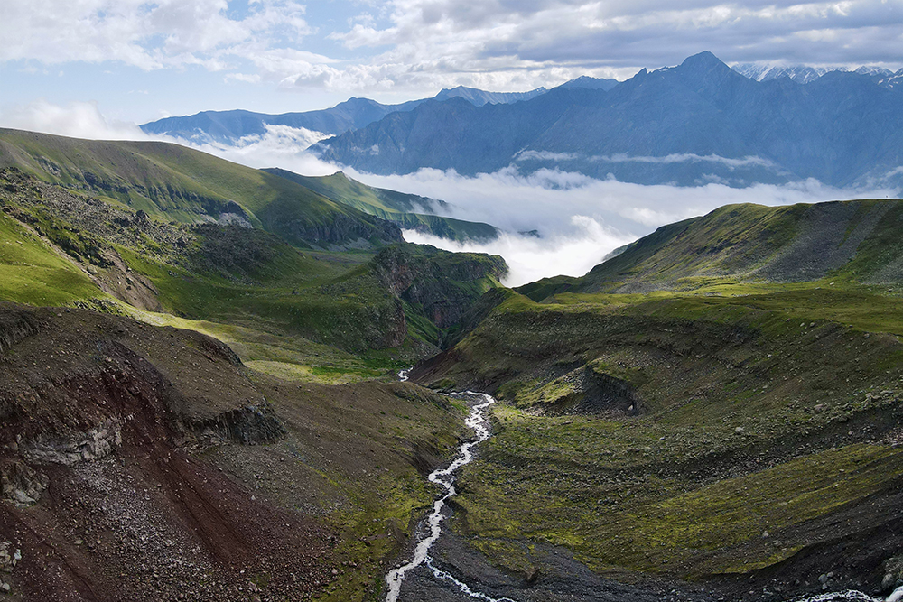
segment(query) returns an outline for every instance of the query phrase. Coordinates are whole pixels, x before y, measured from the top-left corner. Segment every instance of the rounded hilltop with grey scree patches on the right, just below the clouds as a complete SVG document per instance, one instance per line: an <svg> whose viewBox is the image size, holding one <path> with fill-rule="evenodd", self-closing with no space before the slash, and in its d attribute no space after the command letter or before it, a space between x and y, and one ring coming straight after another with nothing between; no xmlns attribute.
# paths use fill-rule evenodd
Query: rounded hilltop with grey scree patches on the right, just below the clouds
<svg viewBox="0 0 903 602"><path fill-rule="evenodd" d="M518 289L541 301L556 292L702 291L723 283L903 280L898 244L903 203L729 205L660 227L582 278Z"/></svg>

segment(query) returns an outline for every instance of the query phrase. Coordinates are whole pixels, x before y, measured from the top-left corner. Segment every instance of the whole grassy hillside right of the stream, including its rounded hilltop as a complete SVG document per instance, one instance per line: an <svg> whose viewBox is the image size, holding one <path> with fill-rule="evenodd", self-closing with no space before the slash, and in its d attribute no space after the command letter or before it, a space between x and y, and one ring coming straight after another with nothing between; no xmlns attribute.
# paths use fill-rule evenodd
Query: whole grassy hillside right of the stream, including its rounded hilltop
<svg viewBox="0 0 903 602"><path fill-rule="evenodd" d="M458 533L525 574L552 570L531 552L552 542L730 599L818 591L829 568L830 589L880 589L903 521L901 215L721 208L583 278L488 296L414 371L502 402Z"/></svg>

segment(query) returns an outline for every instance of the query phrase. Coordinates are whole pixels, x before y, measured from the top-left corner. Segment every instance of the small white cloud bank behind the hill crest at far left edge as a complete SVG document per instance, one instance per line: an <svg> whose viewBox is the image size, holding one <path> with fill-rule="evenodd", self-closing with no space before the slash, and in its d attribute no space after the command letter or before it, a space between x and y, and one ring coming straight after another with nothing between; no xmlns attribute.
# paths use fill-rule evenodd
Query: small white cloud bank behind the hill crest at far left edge
<svg viewBox="0 0 903 602"><path fill-rule="evenodd" d="M39 99L0 112L4 127L93 140L148 140L134 123L107 119L97 102L54 105Z"/></svg>

